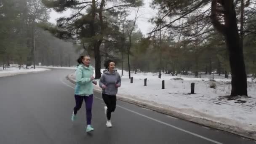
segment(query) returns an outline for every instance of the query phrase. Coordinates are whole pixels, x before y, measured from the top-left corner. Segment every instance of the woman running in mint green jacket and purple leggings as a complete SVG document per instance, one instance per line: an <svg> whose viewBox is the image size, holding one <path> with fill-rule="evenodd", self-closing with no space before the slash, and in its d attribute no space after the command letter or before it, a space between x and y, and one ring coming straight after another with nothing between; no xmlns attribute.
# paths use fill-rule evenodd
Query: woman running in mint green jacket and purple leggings
<svg viewBox="0 0 256 144"><path fill-rule="evenodd" d="M83 100L85 101L87 127L86 132L93 131L91 126L92 104L93 104L93 84L97 84L93 77L93 67L89 56L80 56L77 59L78 66L75 72L75 107L71 120L74 122L77 118L77 111L81 108Z"/></svg>

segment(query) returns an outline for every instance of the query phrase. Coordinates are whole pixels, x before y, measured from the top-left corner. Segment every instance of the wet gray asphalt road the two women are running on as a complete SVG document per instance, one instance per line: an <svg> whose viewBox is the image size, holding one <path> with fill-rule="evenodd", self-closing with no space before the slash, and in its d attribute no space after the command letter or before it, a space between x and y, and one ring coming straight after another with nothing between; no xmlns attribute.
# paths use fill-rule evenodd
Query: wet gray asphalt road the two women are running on
<svg viewBox="0 0 256 144"><path fill-rule="evenodd" d="M117 101L112 128L106 128L104 104L95 93L92 125L85 132L85 108L71 123L74 86L65 76L74 70L0 78L0 144L256 144L223 131Z"/></svg>

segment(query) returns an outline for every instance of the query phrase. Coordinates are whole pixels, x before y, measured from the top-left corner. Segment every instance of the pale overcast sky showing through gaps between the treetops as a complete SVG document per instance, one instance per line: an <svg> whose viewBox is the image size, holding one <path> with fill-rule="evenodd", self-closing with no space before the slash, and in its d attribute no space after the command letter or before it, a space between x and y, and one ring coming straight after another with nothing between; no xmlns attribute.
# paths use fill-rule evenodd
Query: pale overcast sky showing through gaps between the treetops
<svg viewBox="0 0 256 144"><path fill-rule="evenodd" d="M152 25L148 20L156 15L157 11L150 8L150 3L152 0L144 0L144 6L139 10L139 19L137 21L138 28L141 32L146 35L153 29L154 25ZM137 8L133 8L131 10L131 14L128 19L134 19ZM55 11L51 11L50 13L50 22L56 24L56 19L62 16L69 16L71 11L65 11L63 13L56 13Z"/></svg>

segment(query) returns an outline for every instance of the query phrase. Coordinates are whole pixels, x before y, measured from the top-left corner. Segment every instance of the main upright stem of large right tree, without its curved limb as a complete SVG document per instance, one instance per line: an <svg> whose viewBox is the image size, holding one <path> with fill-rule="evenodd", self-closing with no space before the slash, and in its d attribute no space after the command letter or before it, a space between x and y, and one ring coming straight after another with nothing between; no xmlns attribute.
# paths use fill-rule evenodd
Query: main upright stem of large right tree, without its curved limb
<svg viewBox="0 0 256 144"><path fill-rule="evenodd" d="M229 63L232 73L232 90L231 96L247 96L247 76L245 72L245 62L243 58L243 45L241 44L235 8L232 3L232 13L228 19L229 27L227 27L227 48L229 51Z"/></svg>

